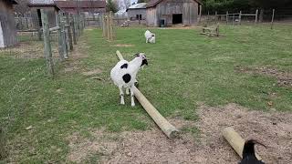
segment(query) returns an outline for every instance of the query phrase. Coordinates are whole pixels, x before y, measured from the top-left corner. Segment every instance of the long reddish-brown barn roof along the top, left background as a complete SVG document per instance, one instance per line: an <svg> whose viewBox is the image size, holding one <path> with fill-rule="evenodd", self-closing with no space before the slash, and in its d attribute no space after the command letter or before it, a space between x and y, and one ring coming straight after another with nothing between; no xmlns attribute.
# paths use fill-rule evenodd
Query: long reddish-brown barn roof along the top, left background
<svg viewBox="0 0 292 164"><path fill-rule="evenodd" d="M105 8L106 1L55 1L59 8Z"/></svg>

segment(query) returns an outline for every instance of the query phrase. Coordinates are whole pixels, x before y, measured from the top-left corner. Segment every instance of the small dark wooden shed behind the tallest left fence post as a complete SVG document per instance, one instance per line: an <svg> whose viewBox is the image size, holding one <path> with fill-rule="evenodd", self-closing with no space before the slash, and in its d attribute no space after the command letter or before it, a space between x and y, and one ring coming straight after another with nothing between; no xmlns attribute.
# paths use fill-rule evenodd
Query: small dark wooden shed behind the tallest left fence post
<svg viewBox="0 0 292 164"><path fill-rule="evenodd" d="M40 9L44 9L47 13L49 27L57 26L56 15L58 14L59 8L54 3L54 0L29 0L27 6L30 8L33 27L35 29L42 26Z"/></svg>

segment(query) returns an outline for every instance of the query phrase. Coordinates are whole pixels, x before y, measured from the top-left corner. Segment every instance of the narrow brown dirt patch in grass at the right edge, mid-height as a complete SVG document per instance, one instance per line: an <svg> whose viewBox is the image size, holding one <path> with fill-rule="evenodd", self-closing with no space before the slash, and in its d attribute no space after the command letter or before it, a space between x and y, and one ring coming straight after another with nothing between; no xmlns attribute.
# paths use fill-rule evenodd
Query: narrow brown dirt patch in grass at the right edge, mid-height
<svg viewBox="0 0 292 164"><path fill-rule="evenodd" d="M245 73L251 73L251 74L262 74L268 77L276 77L278 86L292 87L292 73L278 70L275 67L249 68L249 67L236 66L235 70L240 71L240 72L245 72Z"/></svg>

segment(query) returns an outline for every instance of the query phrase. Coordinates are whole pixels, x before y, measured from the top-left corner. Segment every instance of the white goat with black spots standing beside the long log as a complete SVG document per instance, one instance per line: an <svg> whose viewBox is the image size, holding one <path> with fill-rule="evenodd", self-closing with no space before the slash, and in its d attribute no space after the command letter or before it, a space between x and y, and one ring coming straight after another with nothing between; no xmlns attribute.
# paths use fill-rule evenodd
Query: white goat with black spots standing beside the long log
<svg viewBox="0 0 292 164"><path fill-rule="evenodd" d="M110 71L112 81L120 89L120 104L125 104L123 88L126 88L127 95L129 95L130 88L130 105L132 107L135 106L132 87L135 82L137 82L136 75L143 65L148 65L145 54L140 53L135 54L135 56L136 57L130 62L127 60L120 60L120 62L118 62Z"/></svg>

